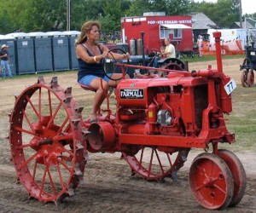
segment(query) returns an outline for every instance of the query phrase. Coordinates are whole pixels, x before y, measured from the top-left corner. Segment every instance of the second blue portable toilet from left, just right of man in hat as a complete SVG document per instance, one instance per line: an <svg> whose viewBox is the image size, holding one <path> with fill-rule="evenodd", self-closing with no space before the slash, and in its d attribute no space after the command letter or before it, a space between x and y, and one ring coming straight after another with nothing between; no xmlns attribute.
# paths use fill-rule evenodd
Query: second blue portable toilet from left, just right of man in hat
<svg viewBox="0 0 256 213"><path fill-rule="evenodd" d="M8 36L15 37L17 74L36 73L32 37L25 32L9 33Z"/></svg>

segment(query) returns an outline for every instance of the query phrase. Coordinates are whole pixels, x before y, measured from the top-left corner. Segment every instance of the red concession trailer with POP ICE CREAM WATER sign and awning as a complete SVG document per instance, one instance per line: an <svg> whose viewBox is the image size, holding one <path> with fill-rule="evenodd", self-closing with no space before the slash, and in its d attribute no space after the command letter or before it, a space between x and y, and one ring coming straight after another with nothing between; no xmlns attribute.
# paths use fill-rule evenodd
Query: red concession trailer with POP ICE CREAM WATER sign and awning
<svg viewBox="0 0 256 213"><path fill-rule="evenodd" d="M133 43L137 44L137 41L142 39L141 32L144 32L145 53L160 49L166 37L171 38L177 52L193 53L192 17L190 15L124 17L121 19L121 30L122 40L124 43L129 43L131 55L139 55L133 54ZM135 46L139 47L139 44Z"/></svg>

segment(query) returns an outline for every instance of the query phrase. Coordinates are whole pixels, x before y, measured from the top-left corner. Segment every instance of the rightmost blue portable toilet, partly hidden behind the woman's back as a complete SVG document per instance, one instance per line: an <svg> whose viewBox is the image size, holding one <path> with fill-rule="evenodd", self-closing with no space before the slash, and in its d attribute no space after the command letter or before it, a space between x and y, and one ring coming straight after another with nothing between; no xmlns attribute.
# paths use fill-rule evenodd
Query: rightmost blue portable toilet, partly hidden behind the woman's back
<svg viewBox="0 0 256 213"><path fill-rule="evenodd" d="M68 37L68 47L69 47L69 62L70 62L70 69L77 70L79 68L79 62L76 57L76 49L75 43L78 39L81 32L79 31L65 31L63 34L67 35Z"/></svg>

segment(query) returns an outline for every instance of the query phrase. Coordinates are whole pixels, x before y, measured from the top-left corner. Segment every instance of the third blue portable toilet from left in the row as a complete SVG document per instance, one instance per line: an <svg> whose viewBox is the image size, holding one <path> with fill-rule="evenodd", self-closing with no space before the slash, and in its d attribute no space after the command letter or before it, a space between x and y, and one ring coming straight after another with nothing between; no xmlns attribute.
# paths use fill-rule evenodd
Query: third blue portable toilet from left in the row
<svg viewBox="0 0 256 213"><path fill-rule="evenodd" d="M53 72L51 38L46 32L29 32L34 42L36 72Z"/></svg>

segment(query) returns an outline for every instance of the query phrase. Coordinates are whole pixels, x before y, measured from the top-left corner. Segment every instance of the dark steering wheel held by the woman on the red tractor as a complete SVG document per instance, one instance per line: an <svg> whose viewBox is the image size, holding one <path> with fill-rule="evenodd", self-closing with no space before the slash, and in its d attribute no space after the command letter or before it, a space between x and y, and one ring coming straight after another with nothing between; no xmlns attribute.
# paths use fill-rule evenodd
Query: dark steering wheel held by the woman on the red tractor
<svg viewBox="0 0 256 213"><path fill-rule="evenodd" d="M121 52L121 54L126 54L124 49L120 49L120 48L109 49L108 54L112 56L112 60L113 60L113 67L111 67L112 72L107 72L107 67L106 66L107 66L107 60L108 59L107 60L105 59L105 60L102 61L103 67L104 67L103 71L105 72L105 75L107 76L107 78L109 78L110 80L113 80L113 81L118 81L118 80L122 79L123 77L121 77L121 78L111 78L111 77L108 76L109 73L111 73L112 75L113 75L113 73L122 73L120 71L120 66L116 65L116 63L120 62L120 60L116 60L114 58L113 52ZM129 64L130 60L122 60L122 63ZM128 69L129 69L129 67L125 67L125 73L124 73L125 75L127 74Z"/></svg>

